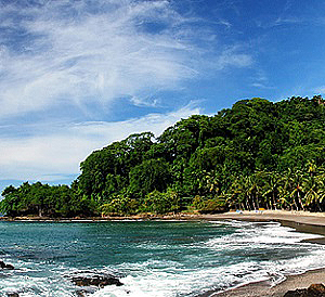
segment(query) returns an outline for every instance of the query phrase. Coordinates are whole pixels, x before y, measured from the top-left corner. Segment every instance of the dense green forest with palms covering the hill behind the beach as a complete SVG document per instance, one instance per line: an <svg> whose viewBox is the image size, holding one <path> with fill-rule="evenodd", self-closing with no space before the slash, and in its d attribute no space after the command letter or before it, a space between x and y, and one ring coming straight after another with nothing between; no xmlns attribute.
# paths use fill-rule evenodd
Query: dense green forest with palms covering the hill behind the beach
<svg viewBox="0 0 325 297"><path fill-rule="evenodd" d="M155 138L131 134L91 153L70 186L8 186L9 216L74 217L227 209L325 210L321 96L242 100Z"/></svg>

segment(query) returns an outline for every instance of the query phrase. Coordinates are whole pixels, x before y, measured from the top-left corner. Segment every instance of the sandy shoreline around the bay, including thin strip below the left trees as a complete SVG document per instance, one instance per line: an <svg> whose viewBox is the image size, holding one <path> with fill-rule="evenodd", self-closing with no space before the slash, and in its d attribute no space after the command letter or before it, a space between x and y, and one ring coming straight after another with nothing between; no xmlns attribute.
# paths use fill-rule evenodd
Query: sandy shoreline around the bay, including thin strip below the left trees
<svg viewBox="0 0 325 297"><path fill-rule="evenodd" d="M282 225L290 227L297 232L317 234L325 236L325 214L307 212L307 211L283 211L283 210L264 210L264 211L243 211L226 212L218 215L170 215L170 216L132 216L132 217L109 217L109 218L74 218L74 219L50 219L50 218L0 218L0 221L30 221L30 222L107 222L107 221L144 221L144 220L178 220L178 221L275 221ZM325 245L325 237L307 240L309 243ZM224 292L206 292L200 297L259 297L259 296L284 296L288 290L297 288L307 288L311 284L325 283L325 263L324 268L309 270L302 274L286 275L286 279L276 284L270 281L248 283L238 287L230 288Z"/></svg>

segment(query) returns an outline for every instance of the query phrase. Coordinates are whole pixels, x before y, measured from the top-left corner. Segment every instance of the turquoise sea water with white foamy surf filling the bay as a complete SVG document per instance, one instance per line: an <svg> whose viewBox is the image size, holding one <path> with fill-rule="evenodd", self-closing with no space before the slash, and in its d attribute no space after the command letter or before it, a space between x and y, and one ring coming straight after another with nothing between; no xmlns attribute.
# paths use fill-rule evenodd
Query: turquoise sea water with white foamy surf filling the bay
<svg viewBox="0 0 325 297"><path fill-rule="evenodd" d="M122 286L89 296L198 296L324 267L325 246L276 222L0 222L0 296L77 296L79 273Z"/></svg>

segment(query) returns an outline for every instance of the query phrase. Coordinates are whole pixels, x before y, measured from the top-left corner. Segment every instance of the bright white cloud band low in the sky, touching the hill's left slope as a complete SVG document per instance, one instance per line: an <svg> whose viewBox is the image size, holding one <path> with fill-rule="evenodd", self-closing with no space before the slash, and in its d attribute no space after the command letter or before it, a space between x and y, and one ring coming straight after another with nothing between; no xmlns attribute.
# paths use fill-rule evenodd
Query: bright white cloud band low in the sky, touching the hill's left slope
<svg viewBox="0 0 325 297"><path fill-rule="evenodd" d="M79 163L93 150L131 133L152 131L159 135L181 118L199 114L195 103L168 114L150 114L116 122L82 122L62 127L46 135L2 139L0 180L60 180L79 172Z"/></svg>

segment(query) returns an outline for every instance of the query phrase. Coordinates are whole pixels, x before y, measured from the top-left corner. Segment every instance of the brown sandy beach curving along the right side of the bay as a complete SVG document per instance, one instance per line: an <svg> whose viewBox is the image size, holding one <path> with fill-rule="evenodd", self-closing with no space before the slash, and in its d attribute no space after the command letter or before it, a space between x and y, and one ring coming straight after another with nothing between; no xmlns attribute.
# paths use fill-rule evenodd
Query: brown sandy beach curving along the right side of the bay
<svg viewBox="0 0 325 297"><path fill-rule="evenodd" d="M203 216L207 220L249 220L249 221L277 221L283 225L295 228L299 232L322 234L325 235L325 214L313 214L307 211L282 211L282 210L265 210L265 211L244 211L227 212L222 215ZM309 240L317 244L325 244L324 238ZM325 263L324 263L325 267ZM209 292L203 297L261 297L261 296L284 296L288 290L296 288L307 288L311 284L325 284L325 269L308 271L299 275L289 275L286 280L276 286L272 286L270 282L258 282L247 284L223 293Z"/></svg>

